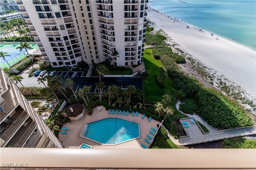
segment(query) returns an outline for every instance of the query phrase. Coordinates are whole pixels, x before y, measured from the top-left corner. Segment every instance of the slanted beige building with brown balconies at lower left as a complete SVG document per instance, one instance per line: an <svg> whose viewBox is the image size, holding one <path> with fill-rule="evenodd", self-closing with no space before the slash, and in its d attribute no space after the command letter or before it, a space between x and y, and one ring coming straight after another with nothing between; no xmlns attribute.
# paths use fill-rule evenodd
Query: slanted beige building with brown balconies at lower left
<svg viewBox="0 0 256 170"><path fill-rule="evenodd" d="M16 85L0 69L0 147L62 148Z"/></svg>

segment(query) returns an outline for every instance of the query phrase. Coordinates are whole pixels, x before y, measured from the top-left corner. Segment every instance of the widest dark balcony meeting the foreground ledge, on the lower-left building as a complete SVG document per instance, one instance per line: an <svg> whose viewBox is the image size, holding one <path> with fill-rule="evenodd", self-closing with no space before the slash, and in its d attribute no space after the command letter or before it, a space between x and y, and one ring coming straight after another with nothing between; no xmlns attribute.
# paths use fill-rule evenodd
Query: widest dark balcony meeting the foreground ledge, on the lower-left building
<svg viewBox="0 0 256 170"><path fill-rule="evenodd" d="M23 147L28 141L28 138L35 130L35 128L36 123L33 122L33 120L30 119L30 117L28 117L28 119L26 119L26 121L23 122L20 128L16 131L14 136L12 136L12 138L8 141L6 146L19 148Z"/></svg>

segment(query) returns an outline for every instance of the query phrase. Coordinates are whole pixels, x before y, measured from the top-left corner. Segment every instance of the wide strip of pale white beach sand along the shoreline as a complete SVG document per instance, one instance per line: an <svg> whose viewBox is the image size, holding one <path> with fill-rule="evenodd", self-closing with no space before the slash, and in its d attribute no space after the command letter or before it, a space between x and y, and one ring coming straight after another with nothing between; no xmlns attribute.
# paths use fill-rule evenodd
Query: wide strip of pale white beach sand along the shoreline
<svg viewBox="0 0 256 170"><path fill-rule="evenodd" d="M147 19L154 23L156 30L162 29L168 34L172 42L178 44L177 48L256 97L256 51L232 40L211 36L209 32L200 32L190 24L187 28L186 23L174 22L174 19L150 8L147 13Z"/></svg>

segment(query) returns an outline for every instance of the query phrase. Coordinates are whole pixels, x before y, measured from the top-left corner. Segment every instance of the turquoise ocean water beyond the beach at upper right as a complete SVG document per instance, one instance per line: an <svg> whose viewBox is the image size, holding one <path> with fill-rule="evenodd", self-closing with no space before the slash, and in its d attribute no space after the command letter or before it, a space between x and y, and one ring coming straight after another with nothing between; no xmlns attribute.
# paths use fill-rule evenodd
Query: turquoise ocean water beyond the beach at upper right
<svg viewBox="0 0 256 170"><path fill-rule="evenodd" d="M148 4L172 18L256 49L256 0L155 0Z"/></svg>

